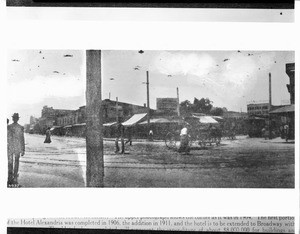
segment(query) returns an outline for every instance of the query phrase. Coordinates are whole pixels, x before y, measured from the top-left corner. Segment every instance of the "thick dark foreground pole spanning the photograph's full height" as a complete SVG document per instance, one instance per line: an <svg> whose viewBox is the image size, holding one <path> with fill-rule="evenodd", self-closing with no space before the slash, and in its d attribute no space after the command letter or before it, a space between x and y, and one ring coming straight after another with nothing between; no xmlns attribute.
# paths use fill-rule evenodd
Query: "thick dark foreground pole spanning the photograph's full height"
<svg viewBox="0 0 300 234"><path fill-rule="evenodd" d="M104 187L101 50L86 51L86 186Z"/></svg>

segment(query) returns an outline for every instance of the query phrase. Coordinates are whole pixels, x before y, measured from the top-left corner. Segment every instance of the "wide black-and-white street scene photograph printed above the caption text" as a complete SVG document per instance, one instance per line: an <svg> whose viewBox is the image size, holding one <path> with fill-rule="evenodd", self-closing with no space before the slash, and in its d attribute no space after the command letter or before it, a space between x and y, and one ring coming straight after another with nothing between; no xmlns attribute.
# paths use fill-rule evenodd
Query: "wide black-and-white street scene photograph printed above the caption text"
<svg viewBox="0 0 300 234"><path fill-rule="evenodd" d="M294 188L295 53L10 50L9 188Z"/></svg>

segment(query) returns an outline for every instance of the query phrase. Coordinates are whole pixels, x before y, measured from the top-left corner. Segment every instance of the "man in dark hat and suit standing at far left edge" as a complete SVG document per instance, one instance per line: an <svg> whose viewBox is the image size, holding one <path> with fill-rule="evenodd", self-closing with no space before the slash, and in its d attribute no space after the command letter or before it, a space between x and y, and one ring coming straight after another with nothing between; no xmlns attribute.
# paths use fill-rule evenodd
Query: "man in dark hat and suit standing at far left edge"
<svg viewBox="0 0 300 234"><path fill-rule="evenodd" d="M19 187L18 171L20 155L25 154L24 127L18 124L19 114L12 116L13 123L7 126L8 144L8 187Z"/></svg>

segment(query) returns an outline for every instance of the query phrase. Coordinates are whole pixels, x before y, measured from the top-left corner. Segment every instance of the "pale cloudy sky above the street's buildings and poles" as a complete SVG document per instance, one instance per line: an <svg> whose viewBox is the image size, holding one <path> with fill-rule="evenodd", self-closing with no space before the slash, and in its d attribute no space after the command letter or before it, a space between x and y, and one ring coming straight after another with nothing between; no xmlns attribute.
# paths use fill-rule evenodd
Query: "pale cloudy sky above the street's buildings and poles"
<svg viewBox="0 0 300 234"><path fill-rule="evenodd" d="M268 102L269 73L274 105L289 104L285 64L288 51L102 51L102 99L143 105L149 71L150 107L156 98L193 101L246 111L250 102ZM18 112L20 123L41 116L48 105L78 109L85 105L85 51L12 50L7 58L7 116Z"/></svg>

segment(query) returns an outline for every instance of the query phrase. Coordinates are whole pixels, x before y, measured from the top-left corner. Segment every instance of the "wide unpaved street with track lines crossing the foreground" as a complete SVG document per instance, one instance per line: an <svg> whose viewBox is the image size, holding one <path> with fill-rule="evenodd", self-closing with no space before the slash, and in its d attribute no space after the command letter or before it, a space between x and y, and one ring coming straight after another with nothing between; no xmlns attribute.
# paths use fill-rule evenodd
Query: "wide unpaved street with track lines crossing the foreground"
<svg viewBox="0 0 300 234"><path fill-rule="evenodd" d="M26 134L23 187L84 187L85 139ZM238 137L181 155L163 142L133 142L126 154L105 141L105 187L292 188L294 144Z"/></svg>

